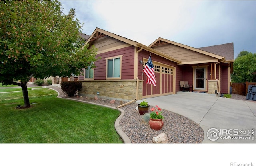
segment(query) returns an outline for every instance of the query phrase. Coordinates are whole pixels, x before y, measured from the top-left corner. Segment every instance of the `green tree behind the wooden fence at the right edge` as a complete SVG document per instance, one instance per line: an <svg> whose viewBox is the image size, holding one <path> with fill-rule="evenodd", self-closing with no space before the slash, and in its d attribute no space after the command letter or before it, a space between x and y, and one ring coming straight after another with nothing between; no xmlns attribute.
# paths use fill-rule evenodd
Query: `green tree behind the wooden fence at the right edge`
<svg viewBox="0 0 256 166"><path fill-rule="evenodd" d="M256 82L256 53L241 51L234 61L232 82Z"/></svg>

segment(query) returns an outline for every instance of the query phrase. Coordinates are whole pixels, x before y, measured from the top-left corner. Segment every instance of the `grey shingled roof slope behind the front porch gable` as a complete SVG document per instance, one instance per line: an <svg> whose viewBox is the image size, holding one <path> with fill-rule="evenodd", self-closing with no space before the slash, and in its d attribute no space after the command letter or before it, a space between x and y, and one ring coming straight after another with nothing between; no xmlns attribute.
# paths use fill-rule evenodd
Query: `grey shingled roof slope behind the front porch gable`
<svg viewBox="0 0 256 166"><path fill-rule="evenodd" d="M234 60L234 43L213 45L208 47L201 47L198 49L220 55L225 57L226 60Z"/></svg>

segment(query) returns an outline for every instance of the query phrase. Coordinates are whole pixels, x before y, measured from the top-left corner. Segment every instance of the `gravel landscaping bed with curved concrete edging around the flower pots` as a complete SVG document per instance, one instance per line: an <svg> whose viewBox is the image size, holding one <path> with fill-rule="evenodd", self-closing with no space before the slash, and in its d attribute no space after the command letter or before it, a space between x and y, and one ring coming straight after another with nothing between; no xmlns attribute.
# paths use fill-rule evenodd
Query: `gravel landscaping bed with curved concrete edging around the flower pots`
<svg viewBox="0 0 256 166"><path fill-rule="evenodd" d="M111 104L111 100L103 100L102 98L95 100L94 98L68 97L63 94L60 87L51 86L49 88L57 90L60 93L60 97L63 98L74 98L112 107L124 104L124 102L121 101L115 101L114 104ZM155 131L150 129L148 123L145 123L142 120L142 115L135 110L136 106L136 103L132 103L121 107L125 114L119 123L120 128L129 137L132 143L153 143L153 137L160 133L166 133L168 136L168 143L202 143L204 139L204 131L197 123L187 117L173 113L171 110L167 111L162 109L162 115L165 117L163 120L164 126L161 130Z"/></svg>

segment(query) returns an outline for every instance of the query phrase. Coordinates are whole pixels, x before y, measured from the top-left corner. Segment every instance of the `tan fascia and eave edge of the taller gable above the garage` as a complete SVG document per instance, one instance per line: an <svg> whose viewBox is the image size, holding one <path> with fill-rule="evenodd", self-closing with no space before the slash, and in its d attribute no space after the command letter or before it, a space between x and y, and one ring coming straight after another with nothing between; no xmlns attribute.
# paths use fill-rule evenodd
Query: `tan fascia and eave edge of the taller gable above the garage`
<svg viewBox="0 0 256 166"><path fill-rule="evenodd" d="M159 55L160 57L164 57L165 59L168 59L168 60L170 60L170 61L176 62L176 63L178 63L178 64L181 63L181 61L179 61L179 60L177 60L177 59L175 59L175 58L172 58L172 57L170 57L170 56L168 56L168 55L166 55L166 54L164 54L164 53L161 53L161 52L159 52L159 51L156 51L155 49L152 49L152 48L150 48L150 47L148 47L148 46L146 46L146 45L143 45L143 44L138 43L138 42L136 42L136 41L133 41L133 40L127 39L127 38L125 38L125 37L116 35L116 34L114 34L114 33L110 33L110 32L108 32L108 31L105 31L105 30L100 29L100 28L98 28L98 27L94 30L94 32L92 33L92 35L91 35L91 36L89 37L89 39L86 41L86 44L87 44L87 43L90 43L90 44L91 44L94 40L96 40L96 39L98 39L98 38L100 38L100 37L106 36L106 35L107 35L107 36L110 36L110 37L113 37L114 39L118 39L118 40L120 40L120 41L123 41L124 43L128 43L128 44L130 44L130 45L133 45L134 47L139 47L139 48L143 47L143 49L146 50L146 51L149 51L149 52L151 52L151 53L154 53L154 54L156 54L156 55Z"/></svg>

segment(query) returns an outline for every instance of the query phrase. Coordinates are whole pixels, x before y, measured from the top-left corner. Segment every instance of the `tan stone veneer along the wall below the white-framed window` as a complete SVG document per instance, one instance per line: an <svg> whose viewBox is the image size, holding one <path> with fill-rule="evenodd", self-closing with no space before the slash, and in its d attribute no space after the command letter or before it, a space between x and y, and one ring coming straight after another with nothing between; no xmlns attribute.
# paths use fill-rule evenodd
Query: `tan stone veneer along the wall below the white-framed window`
<svg viewBox="0 0 256 166"><path fill-rule="evenodd" d="M122 99L131 101L136 98L137 80L78 80L82 82L79 96L94 97L99 92L99 98ZM139 80L138 98L142 99L143 80Z"/></svg>

